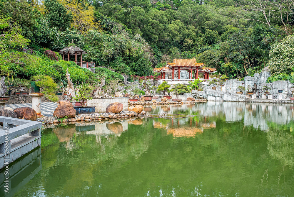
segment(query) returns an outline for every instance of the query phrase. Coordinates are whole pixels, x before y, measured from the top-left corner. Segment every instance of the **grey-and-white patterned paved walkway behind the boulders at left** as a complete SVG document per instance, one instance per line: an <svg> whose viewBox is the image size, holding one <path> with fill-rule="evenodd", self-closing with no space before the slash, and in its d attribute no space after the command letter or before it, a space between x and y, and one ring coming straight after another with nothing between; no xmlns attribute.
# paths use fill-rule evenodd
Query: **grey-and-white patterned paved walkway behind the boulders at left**
<svg viewBox="0 0 294 197"><path fill-rule="evenodd" d="M24 103L24 104L8 104L5 107L11 107L12 109L19 108L19 107L32 107L31 103ZM57 104L53 102L44 102L41 103L41 114L43 116L53 116L53 112L56 109Z"/></svg>

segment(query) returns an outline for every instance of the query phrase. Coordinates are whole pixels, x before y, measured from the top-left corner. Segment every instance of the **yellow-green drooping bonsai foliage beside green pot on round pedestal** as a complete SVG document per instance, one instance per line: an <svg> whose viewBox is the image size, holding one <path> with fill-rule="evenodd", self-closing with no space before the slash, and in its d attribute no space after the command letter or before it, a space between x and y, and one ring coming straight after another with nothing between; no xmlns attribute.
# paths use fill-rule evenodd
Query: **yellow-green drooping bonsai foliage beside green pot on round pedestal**
<svg viewBox="0 0 294 197"><path fill-rule="evenodd" d="M41 93L49 100L56 102L58 97L55 95L57 84L53 81L52 77L46 75L33 76L32 80L36 81L36 86L39 86Z"/></svg>

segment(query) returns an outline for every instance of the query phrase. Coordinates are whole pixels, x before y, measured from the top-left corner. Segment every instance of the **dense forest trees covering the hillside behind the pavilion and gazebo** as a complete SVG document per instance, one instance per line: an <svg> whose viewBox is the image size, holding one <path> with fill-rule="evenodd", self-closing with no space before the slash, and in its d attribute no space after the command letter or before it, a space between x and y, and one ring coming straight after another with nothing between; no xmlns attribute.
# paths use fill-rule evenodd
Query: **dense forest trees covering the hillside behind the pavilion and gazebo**
<svg viewBox="0 0 294 197"><path fill-rule="evenodd" d="M153 68L173 58L193 57L229 78L252 75L267 65L275 73L288 73L293 4L258 2L2 0L0 74L21 72L25 64L30 73L16 75L39 75L48 68L49 76L61 79L63 74L52 73L51 64L44 63L44 47L56 52L71 43L88 52L83 60L129 75L151 76ZM27 45L35 54L20 53ZM281 48L285 51L279 53Z"/></svg>

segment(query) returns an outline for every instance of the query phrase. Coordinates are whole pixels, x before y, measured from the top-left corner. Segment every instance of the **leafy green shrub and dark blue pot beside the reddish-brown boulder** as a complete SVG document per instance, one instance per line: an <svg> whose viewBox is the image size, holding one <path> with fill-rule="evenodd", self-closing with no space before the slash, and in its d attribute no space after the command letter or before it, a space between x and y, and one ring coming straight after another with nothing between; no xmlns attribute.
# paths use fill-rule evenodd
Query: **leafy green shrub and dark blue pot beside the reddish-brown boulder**
<svg viewBox="0 0 294 197"><path fill-rule="evenodd" d="M88 96L91 94L93 89L88 84L82 84L77 87L78 92L76 96L72 98L73 101L81 104L81 106L74 106L76 114L91 114L95 112L95 106L86 106L86 102L91 100L92 97Z"/></svg>

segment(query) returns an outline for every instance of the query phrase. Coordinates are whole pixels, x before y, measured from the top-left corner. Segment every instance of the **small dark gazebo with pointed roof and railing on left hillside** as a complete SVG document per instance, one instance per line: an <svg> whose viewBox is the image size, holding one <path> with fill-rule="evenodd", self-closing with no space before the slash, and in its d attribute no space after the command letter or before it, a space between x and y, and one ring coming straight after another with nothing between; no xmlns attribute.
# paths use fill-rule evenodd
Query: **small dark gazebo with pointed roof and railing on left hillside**
<svg viewBox="0 0 294 197"><path fill-rule="evenodd" d="M65 61L70 61L70 58L74 56L74 62L81 67L91 68L95 66L94 62L82 61L82 55L87 54L87 52L77 47L76 45L69 45L58 52L62 54L62 59ZM79 58L79 60L77 58Z"/></svg>

